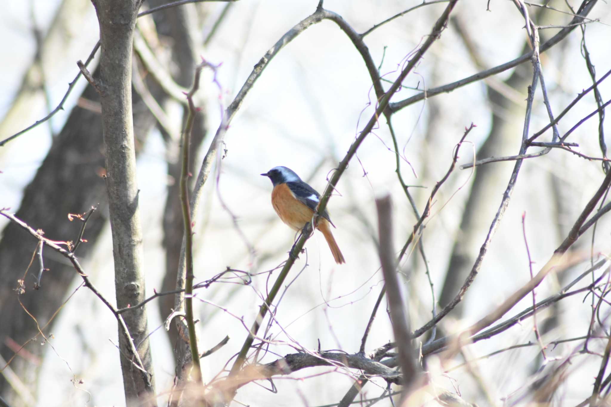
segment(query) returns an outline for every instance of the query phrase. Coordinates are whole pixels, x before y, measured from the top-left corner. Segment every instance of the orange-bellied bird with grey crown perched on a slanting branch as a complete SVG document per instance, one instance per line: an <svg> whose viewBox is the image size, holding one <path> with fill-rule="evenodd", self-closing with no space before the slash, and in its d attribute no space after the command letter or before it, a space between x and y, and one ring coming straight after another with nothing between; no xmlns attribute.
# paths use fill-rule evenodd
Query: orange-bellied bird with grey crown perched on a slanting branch
<svg viewBox="0 0 611 407"><path fill-rule="evenodd" d="M276 213L282 222L296 231L303 229L306 223L312 222L312 215L320 202L320 193L301 181L301 178L287 167L274 167L262 175L271 179L272 184L274 184L274 189L271 192L271 204L276 209ZM333 225L331 218L329 218L329 212L325 209L321 213L321 218L318 219L316 229L323 233L335 262L337 264L345 263L342 251L337 247L335 238L331 233L329 223ZM335 228L335 225L333 227Z"/></svg>

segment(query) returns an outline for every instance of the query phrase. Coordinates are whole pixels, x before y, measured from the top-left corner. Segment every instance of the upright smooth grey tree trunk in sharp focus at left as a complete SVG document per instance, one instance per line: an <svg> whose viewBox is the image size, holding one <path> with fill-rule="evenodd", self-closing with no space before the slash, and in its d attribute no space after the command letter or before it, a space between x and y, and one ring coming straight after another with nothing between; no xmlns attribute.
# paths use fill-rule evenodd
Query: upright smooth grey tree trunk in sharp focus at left
<svg viewBox="0 0 611 407"><path fill-rule="evenodd" d="M101 58L98 87L101 92L106 187L112 229L117 307L125 308L145 298L142 228L136 179L136 152L131 110L131 56L137 12L141 0L97 0ZM147 339L145 306L123 314L143 368L154 386L152 358ZM146 402L148 394L140 372L133 366L128 342L119 335L123 388L128 406ZM151 389L149 389L150 391Z"/></svg>

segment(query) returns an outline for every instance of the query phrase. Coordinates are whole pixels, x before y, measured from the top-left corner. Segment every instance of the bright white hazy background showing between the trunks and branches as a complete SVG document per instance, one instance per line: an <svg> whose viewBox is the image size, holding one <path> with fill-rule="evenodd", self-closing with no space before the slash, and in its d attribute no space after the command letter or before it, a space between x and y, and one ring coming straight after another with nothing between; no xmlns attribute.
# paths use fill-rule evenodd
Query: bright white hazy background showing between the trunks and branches
<svg viewBox="0 0 611 407"><path fill-rule="evenodd" d="M37 23L45 27L53 16L59 2L56 0L33 0ZM89 3L87 1L87 3ZM292 26L315 10L317 1L250 1L242 0L235 4L227 20L207 49L204 57L211 62L220 63L219 81L224 87L223 103L225 106L239 90L252 67L265 52ZM351 1L337 0L324 3L326 9L342 15L356 31L363 32L373 24L407 9L418 1ZM552 1L555 7L563 7L563 1ZM574 5L578 5L574 2ZM34 40L31 35L31 18L29 2L7 2L0 15L0 33L2 34L3 63L0 64L0 116L12 103L14 92L19 87L21 76L29 66L34 52ZM218 14L222 5L211 3ZM376 63L384 62L382 73L393 71L397 64L414 49L422 40L445 4L422 7L392 23L378 29L366 37L367 45ZM486 11L485 2L461 1L457 6L459 13L468 21L469 30L478 45L487 67L493 67L518 56L525 38L524 20L519 16L510 1L491 1L491 11ZM216 14L215 14L216 13ZM611 38L611 16L609 7L604 2L596 5L591 18L601 18L602 23L590 24L587 29L588 48L601 76L611 68L609 38ZM562 24L568 21L567 16L552 14L549 24ZM48 91L53 104L59 102L67 89L67 83L75 76L78 68L76 60L86 59L90 49L97 40L97 22L91 6L86 21L75 21L75 37L67 42L69 57L49 63L46 77ZM585 71L585 63L577 58L579 55L580 34L576 30L563 44L543 56L543 69L546 84L552 95L566 92L576 95L583 88L591 85ZM555 31L554 31L555 32ZM546 32L547 34L547 32ZM548 35L548 37L551 35ZM51 58L53 60L53 58ZM420 63L406 83L415 85L419 81L426 87L452 82L476 73L478 69L470 61L469 55L461 44L460 38L448 29L440 41L434 43L429 54ZM504 79L510 71L497 76ZM84 80L68 99L65 112L57 114L52 121L53 129L59 131L67 118L70 107L84 86ZM207 92L207 108L210 120L210 132L216 130L220 117L216 88L210 84L210 76L202 79L202 92ZM611 82L602 84L601 93L607 100L611 95ZM520 90L525 94L525 89ZM537 91L538 92L538 91ZM408 89L396 95L397 101L411 95ZM574 96L552 96L552 109L560 112ZM356 49L348 38L334 23L324 21L310 27L269 64L265 73L249 93L240 111L233 119L227 137L227 157L222 160L219 184L211 179L205 192L201 213L196 225L196 270L198 279L210 278L224 270L228 265L241 270L260 272L275 267L290 249L293 232L277 220L269 204L271 184L259 176L276 165L286 165L295 170L302 178L312 176L315 168L326 157L320 170L313 175L310 184L319 192L326 185L328 171L343 158L354 139L357 129L362 128L371 115L367 108L368 101L375 99L370 90L368 73ZM436 126L436 134L428 133L428 117L431 104L442 110L443 123ZM525 106L525 104L524 104ZM588 96L569 113L561 125L566 131L579 118L595 109L593 97ZM524 107L522 107L524 109ZM16 130L23 128L45 115L45 107L32 106L31 115L23 117L16 123ZM360 119L360 121L359 121ZM535 112L533 112L532 129L536 131L549 120L537 93ZM403 176L409 185L422 185L427 189L414 189L415 197L422 210L426 196L434 183L444 175L452 158L453 146L470 123L477 124L467 140L471 145L464 145L461 151L461 163L472 159L473 146L478 146L486 137L491 123L491 110L485 99L483 84L476 83L455 90L452 93L436 96L425 103L415 104L402 110L393 117L397 129L399 145L415 173L402 162ZM606 128L609 129L609 119ZM577 141L581 151L599 153L596 138L598 137L595 118L585 124ZM516 132L508 135L513 140L513 148L499 151L496 156L517 154L521 137L522 123L516 123ZM607 131L609 134L609 131ZM4 138L7 135L1 134ZM377 137L376 137L377 136ZM0 149L0 170L3 172L0 181L0 207L19 206L21 190L34 176L40 162L45 157L50 145L48 127L38 126L31 132L22 135L9 146ZM208 142L210 140L208 139ZM395 170L395 156L387 148L392 146L385 123L380 123L376 134L371 134L359 149L359 161L353 159L346 171L338 190L342 196L334 196L329 203L332 220L337 225L334 230L338 244L346 257L347 264L337 267L332 262L326 243L320 234L307 243L309 267L293 283L282 300L277 318L287 332L305 347L317 348L320 339L323 349L343 349L348 352L358 350L360 337L371 312L379 289L381 273L378 272L379 261L376 248L370 238L367 223L377 231L375 215L375 196L392 193L395 200L395 249L403 245L414 217L402 195ZM483 158L483 157L478 157ZM157 134L148 138L147 146L139 157L139 187L141 189L142 223L145 236L145 262L147 264L147 292L161 287L163 278L163 251L161 242L161 211L166 198L166 168L164 164L164 145ZM499 206L502 191L505 189L513 162L492 164L506 168L506 175L499 180L499 189L491 191L489 205L494 212ZM569 170L566 170L569 168ZM218 170L218 167L217 167ZM363 177L364 170L367 177ZM505 214L503 223L497 231L489 254L484 262L482 272L476 279L475 286L466 298L466 320L462 324L472 323L489 309L508 297L513 291L529 279L527 258L521 237L521 215L527 213L527 231L529 245L536 265L543 265L551 256L558 242L549 225L554 222L573 223L574 218L558 220L552 218L551 203L547 195L549 186L545 181L550 172L563 178L568 190L568 199L574 201L579 210L590 199L597 185L602 180L600 165L587 162L568 153L553 151L549 156L525 162L514 192L510 208ZM215 176L218 173L215 173ZM446 187L437 196L433 209L434 217L428 220L424 237L426 251L436 292L441 291L447 266L449 252L456 234L468 186L459 189L469 182L470 170L456 170ZM216 177L215 177L216 178ZM455 194L455 195L453 195ZM450 199L451 198L451 199ZM221 199L233 215L238 217L238 225L246 236L247 242L233 227L231 215L222 207ZM438 212L444 203L448 204ZM363 222L362 220L365 220ZM491 218L483 218L482 224L489 225ZM5 224L4 218L0 226ZM35 225L32 225L35 227ZM599 231L597 250L609 250L609 223L604 223ZM483 226L487 230L487 226ZM590 239L589 237L587 239ZM86 270L93 281L109 298L114 296L112 280L112 253L109 228L101 236L97 254L86 263ZM255 255L249 254L248 245L255 249ZM478 247L473 248L474 251ZM419 264L420 262L417 262ZM404 271L411 276L411 295L419 297L426 304L423 309L412 309L414 328L430 319L430 289L423 274L422 264L412 270L414 262L408 261ZM292 276L304 266L301 259L294 267ZM579 268L575 273L584 271ZM265 278L255 279L253 287L265 290ZM78 284L75 281L75 286ZM546 281L538 291L538 298L557 292L553 281ZM260 300L254 290L231 284L219 284L201 292L202 297L227 307L231 312L244 317L247 325L252 323ZM518 304L509 314L526 308L532 301L528 297ZM580 304L581 298L576 300ZM317 308L313 309L315 306ZM148 307L150 315L149 328L157 328L161 323L155 304ZM208 380L218 373L222 364L233 353L239 350L246 337L241 323L224 312L210 306L202 306L200 319L206 328L200 339L202 350L219 342L226 334L231 340L221 351L203 359L203 368ZM587 304L576 306L566 311L563 318L571 326L587 325L589 314ZM290 324L296 320L292 325ZM577 328L576 328L577 329ZM122 381L117 351L109 339L116 343L115 321L111 314L85 289L79 290L68 303L59 322L54 328L56 340L53 342L57 353L68 361L79 378L84 378L81 387L93 394L89 405L123 405ZM274 331L278 333L278 330ZM566 333L564 337L570 336ZM286 340L285 337L282 339ZM392 331L387 322L386 310L380 309L374 330L368 340L371 351L392 339ZM528 320L522 326L512 328L496 342L480 342L474 347L474 355L502 347L500 344L524 343L533 341L532 322ZM83 351L84 344L95 348L95 352ZM153 358L157 374L157 385L160 391L168 389L174 376L174 364L169 353L169 344L161 331L152 335ZM571 347L566 347L570 351ZM291 353L290 347L277 349L280 354ZM523 377L510 375L508 371L494 370L502 364L500 358L514 363L516 355L524 363L534 358L536 349L520 353L505 353L498 356L494 363L484 365L483 375L488 377L497 388L497 397L508 396L523 384ZM273 359L269 359L270 361ZM431 363L434 365L434 362ZM520 365L522 366L522 365ZM431 367L433 369L434 367ZM585 372L593 372L591 366L584 366ZM293 374L291 377L304 377L322 370L307 370ZM453 391L459 387L463 395L474 392L474 383L467 375L452 375L456 381L442 376L434 380L440 387ZM332 379L330 379L332 378ZM55 353L48 350L40 383L38 405L77 405L87 402L86 393L76 390L70 383L71 373L65 363ZM329 386L329 380L333 385ZM590 377L584 378L584 389L591 391ZM352 383L348 376L332 373L307 381L294 381L280 378L275 380L279 394L271 394L259 386L251 384L241 389L237 400L251 405L300 405L299 392L307 394L309 405L321 405L337 402L338 394L347 391ZM327 385L325 385L327 384ZM367 396L375 397L382 393L382 388L368 385ZM295 388L299 389L295 392ZM316 391L313 391L316 389ZM498 392L496 392L498 391ZM566 390L569 404L580 402L587 395L579 385ZM57 404L48 400L57 400ZM256 404L249 400L260 400ZM469 400L469 398L467 398ZM475 402L476 400L474 400ZM381 403L382 404L382 403ZM382 404L383 405L383 404Z"/></svg>

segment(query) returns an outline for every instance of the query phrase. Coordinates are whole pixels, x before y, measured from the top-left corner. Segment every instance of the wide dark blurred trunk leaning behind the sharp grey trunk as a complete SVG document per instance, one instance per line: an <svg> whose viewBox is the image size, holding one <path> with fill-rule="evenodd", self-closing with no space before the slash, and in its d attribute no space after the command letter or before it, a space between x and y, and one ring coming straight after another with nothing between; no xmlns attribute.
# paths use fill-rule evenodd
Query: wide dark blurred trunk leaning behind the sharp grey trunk
<svg viewBox="0 0 611 407"><path fill-rule="evenodd" d="M94 76L97 74L96 71ZM81 97L95 104L100 100L90 85L87 85ZM133 104L134 131L137 137L142 138L155 124L155 119L135 94ZM21 137L31 137L31 135L26 133ZM100 113L76 106L62 131L54 138L53 145L34 179L27 185L16 216L32 228L45 231L45 236L49 239L76 241L81 222L70 222L67 215L85 212L91 206L100 203L98 211L87 223L84 235L87 243L82 243L76 253L81 259L87 258L95 247L108 216L106 186L100 176L103 169ZM24 344L38 333L34 320L21 308L17 294L13 291L17 286L17 280L23 278L37 243L29 233L12 223L2 231L0 354L7 361L15 354L14 344ZM40 326L49 322L53 313L64 301L72 279L77 276L72 265L54 251L44 250L43 258L49 272L43 274L42 287L39 290L32 290L38 270L38 262L35 259L25 278L26 292L20 295L21 303L36 317ZM45 334L51 332L52 328L53 323L46 328ZM40 346L39 338L37 342L27 344L24 350L37 359L42 358L46 347ZM32 392L35 392L40 364L40 361L34 362L34 359L16 356L10 368ZM4 377L0 378L0 394L13 407L22 405Z"/></svg>

